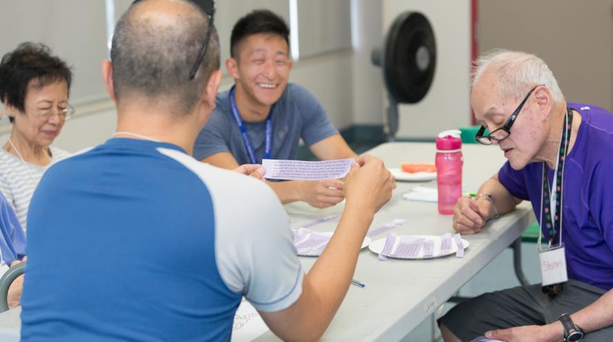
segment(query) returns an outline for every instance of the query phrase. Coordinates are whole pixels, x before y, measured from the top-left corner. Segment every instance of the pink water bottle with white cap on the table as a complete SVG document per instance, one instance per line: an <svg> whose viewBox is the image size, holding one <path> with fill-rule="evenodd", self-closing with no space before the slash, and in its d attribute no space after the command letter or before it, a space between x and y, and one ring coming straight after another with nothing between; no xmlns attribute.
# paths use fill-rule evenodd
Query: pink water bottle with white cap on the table
<svg viewBox="0 0 613 342"><path fill-rule="evenodd" d="M457 129L444 131L437 137L437 185L439 213L452 214L455 202L462 196L462 140Z"/></svg>

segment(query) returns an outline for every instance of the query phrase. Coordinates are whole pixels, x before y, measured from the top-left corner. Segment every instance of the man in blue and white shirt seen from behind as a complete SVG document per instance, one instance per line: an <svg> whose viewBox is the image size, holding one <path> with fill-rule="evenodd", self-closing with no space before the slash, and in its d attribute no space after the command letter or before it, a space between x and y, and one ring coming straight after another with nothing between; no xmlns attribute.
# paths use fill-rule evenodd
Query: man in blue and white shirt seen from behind
<svg viewBox="0 0 613 342"><path fill-rule="evenodd" d="M213 10L142 0L118 21L102 64L117 132L51 167L33 197L21 341L230 341L243 297L281 339L315 341L338 310L392 176L354 164L304 274L271 188L190 156L221 80Z"/></svg>

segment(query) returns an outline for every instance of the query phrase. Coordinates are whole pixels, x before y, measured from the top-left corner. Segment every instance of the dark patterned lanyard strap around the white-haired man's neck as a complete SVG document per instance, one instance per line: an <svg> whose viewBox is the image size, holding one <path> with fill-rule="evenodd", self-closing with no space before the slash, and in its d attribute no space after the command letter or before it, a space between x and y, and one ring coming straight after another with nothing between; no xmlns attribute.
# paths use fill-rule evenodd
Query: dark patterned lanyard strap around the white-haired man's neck
<svg viewBox="0 0 613 342"><path fill-rule="evenodd" d="M568 154L568 145L572 131L573 113L570 108L567 108L566 116L564 117L564 129L562 129L562 137L560 137L560 150L558 160L556 160L556 170L553 173L553 189L549 189L549 176L545 162L542 163L542 192L540 196L540 229L538 234L538 248L540 249L540 240L542 234L543 220L547 227L547 235L549 236L549 247L556 243L562 243L562 191L564 189L564 164L566 155ZM543 200L545 200L545 217L543 217ZM556 231L556 227L559 227ZM557 236L557 238L556 238Z"/></svg>

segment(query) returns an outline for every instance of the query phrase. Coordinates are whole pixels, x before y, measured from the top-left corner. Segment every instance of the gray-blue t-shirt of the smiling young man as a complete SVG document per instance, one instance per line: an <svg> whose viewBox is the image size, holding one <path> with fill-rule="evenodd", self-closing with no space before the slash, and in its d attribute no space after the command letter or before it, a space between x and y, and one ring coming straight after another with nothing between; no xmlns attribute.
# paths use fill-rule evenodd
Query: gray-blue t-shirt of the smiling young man
<svg viewBox="0 0 613 342"><path fill-rule="evenodd" d="M287 85L273 106L271 115L274 132L272 159L295 160L301 137L306 146L311 146L338 133L313 94L297 84ZM257 162L262 162L266 120L245 122L245 126L255 150L255 158ZM217 108L211 113L194 144L194 158L197 160L219 152L232 153L239 164L250 163L241 131L232 118L230 91L217 95Z"/></svg>

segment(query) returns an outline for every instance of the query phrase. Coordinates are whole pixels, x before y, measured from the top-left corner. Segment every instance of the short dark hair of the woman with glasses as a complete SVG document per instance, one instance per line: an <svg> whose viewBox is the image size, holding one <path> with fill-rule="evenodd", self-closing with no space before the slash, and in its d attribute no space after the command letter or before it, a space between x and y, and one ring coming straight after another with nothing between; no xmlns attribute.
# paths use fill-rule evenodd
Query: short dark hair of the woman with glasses
<svg viewBox="0 0 613 342"><path fill-rule="evenodd" d="M71 89L73 74L62 59L51 55L51 49L44 44L25 42L7 53L0 61L0 99L26 111L25 101L28 85L42 88L55 82L66 82ZM12 122L12 117L9 117Z"/></svg>

